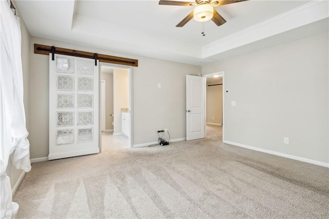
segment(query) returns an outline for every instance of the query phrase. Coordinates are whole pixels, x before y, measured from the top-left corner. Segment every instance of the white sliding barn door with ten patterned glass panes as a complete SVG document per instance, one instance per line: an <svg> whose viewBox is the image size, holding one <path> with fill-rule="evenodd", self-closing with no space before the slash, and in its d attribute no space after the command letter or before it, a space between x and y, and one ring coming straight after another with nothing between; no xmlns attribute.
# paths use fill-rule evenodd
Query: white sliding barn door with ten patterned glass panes
<svg viewBox="0 0 329 219"><path fill-rule="evenodd" d="M99 153L98 69L98 61L49 55L49 160Z"/></svg>

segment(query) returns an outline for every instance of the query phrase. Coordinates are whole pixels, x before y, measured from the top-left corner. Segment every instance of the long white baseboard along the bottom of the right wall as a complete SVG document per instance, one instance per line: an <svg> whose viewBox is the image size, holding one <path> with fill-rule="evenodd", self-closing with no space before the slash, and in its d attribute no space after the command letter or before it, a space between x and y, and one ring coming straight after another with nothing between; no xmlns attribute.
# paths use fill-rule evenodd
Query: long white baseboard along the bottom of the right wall
<svg viewBox="0 0 329 219"><path fill-rule="evenodd" d="M255 148L255 147L251 147L251 146L248 146L248 145L245 145L245 144L235 143L235 142L231 142L231 141L225 141L224 140L223 142L226 143L226 144L232 144L232 145L235 145L237 147L246 148L246 149L250 149L250 150L253 150L253 151L264 152L264 153L267 153L267 154L277 155L277 156L280 156L280 157L299 160L299 161L312 163L314 165L329 168L329 163L325 163L325 162L321 162L321 161L317 161L317 160L311 160L311 159L307 159L307 158L303 158L303 157L297 157L297 156L294 156L294 155L284 154L284 153L280 153L280 152L276 152L276 151L270 151L270 150L266 150L266 149Z"/></svg>

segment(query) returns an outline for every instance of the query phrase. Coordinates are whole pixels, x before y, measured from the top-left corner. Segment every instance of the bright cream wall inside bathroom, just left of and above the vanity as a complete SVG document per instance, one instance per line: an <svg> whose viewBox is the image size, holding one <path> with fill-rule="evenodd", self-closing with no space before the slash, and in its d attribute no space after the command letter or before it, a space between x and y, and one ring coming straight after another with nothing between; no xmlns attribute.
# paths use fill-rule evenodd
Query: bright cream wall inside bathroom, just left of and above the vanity
<svg viewBox="0 0 329 219"><path fill-rule="evenodd" d="M122 133L121 108L129 108L129 70L115 68L113 70L114 97L114 131Z"/></svg>

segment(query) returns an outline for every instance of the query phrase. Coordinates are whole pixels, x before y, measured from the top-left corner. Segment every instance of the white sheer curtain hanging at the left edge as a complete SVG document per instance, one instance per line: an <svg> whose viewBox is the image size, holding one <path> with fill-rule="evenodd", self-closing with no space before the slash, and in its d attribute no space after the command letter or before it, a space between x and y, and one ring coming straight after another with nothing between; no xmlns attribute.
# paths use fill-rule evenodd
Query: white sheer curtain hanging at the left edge
<svg viewBox="0 0 329 219"><path fill-rule="evenodd" d="M12 202L10 179L6 175L10 149L15 148L13 164L31 170L30 143L25 124L21 28L8 1L0 1L0 205L1 218L12 218L18 204Z"/></svg>

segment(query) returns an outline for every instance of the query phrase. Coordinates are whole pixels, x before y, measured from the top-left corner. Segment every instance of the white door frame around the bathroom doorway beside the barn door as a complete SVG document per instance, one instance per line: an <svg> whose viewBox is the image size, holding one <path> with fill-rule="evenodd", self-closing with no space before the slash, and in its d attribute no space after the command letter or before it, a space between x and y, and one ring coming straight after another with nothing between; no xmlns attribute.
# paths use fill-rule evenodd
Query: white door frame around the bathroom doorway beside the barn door
<svg viewBox="0 0 329 219"><path fill-rule="evenodd" d="M100 93L100 99L102 98L101 97L101 67L102 66L107 66L107 67L112 67L112 68L123 68L123 69L126 69L129 71L129 127L130 127L130 132L129 132L129 148L133 148L133 145L134 145L134 139L133 139L133 136L134 136L134 114L133 114L133 107L134 107L134 104L133 104L133 66L128 66L128 65L119 65L119 64L112 64L112 63L105 63L105 62L99 62L99 83L100 83L100 89L99 89L99 93ZM101 102L101 101L99 101ZM99 107L99 109L101 110L101 106ZM99 124L101 124L101 112L99 112ZM100 127L101 129L101 127ZM99 149L100 149L100 152L102 152L102 132L100 131L99 132Z"/></svg>

